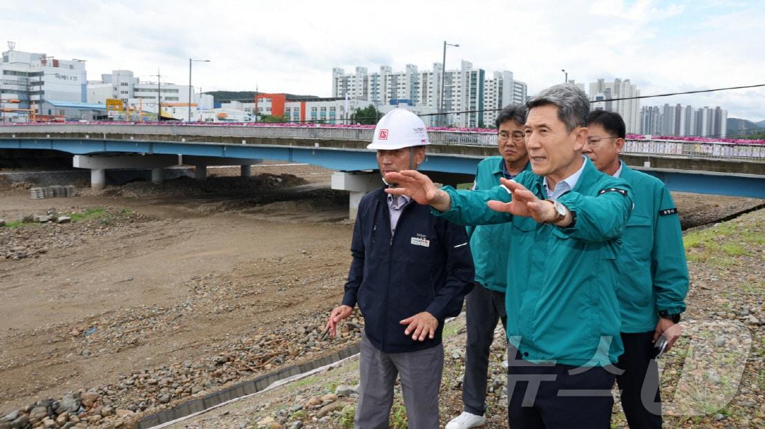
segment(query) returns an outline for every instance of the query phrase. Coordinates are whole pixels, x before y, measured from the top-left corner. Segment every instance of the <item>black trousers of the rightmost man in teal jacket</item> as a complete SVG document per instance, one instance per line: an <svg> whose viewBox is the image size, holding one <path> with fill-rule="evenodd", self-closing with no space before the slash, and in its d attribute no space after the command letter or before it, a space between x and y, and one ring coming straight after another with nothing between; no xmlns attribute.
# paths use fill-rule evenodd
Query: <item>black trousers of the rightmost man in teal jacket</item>
<svg viewBox="0 0 765 429"><path fill-rule="evenodd" d="M653 347L653 330L646 333L622 333L624 354L617 367L621 403L630 429L662 427L662 403L659 398L659 366Z"/></svg>

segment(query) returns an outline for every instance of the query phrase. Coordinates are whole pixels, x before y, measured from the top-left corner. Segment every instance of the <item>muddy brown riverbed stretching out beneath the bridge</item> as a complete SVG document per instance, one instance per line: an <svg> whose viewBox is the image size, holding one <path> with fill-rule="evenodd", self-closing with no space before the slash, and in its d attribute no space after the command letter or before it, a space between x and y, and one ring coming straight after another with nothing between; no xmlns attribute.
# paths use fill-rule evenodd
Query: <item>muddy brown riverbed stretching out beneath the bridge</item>
<svg viewBox="0 0 765 429"><path fill-rule="evenodd" d="M252 180L211 169L206 184L135 182L48 200L2 187L7 221L103 212L0 229L0 413L89 388L149 413L353 342L360 320L343 340L317 335L350 262L347 195L328 190L331 172L318 167L252 170ZM685 225L763 203L674 196ZM275 346L284 353L269 356ZM168 375L164 391L125 383L174 364L199 374Z"/></svg>

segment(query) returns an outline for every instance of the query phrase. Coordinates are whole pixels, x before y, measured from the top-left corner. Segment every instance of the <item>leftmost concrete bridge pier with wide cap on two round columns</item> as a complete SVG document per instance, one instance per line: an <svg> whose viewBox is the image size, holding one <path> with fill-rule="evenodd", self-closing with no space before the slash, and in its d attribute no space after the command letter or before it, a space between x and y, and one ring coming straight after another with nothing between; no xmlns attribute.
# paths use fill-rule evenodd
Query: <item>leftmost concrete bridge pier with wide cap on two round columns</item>
<svg viewBox="0 0 765 429"><path fill-rule="evenodd" d="M72 166L90 169L90 187L101 190L106 187L106 170L114 168L151 168L151 181L164 181L164 167L178 164L177 155L74 155Z"/></svg>

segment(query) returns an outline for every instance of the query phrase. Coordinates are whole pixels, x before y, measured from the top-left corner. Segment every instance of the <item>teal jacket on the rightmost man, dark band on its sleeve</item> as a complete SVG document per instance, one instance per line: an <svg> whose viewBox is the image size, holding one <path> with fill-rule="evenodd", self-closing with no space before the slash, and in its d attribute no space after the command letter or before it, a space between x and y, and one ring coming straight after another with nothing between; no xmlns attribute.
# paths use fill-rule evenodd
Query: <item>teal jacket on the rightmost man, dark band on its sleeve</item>
<svg viewBox="0 0 765 429"><path fill-rule="evenodd" d="M633 189L635 208L627 220L619 253L624 333L656 329L659 311L680 314L688 293L688 265L680 219L661 180L622 163L620 177Z"/></svg>

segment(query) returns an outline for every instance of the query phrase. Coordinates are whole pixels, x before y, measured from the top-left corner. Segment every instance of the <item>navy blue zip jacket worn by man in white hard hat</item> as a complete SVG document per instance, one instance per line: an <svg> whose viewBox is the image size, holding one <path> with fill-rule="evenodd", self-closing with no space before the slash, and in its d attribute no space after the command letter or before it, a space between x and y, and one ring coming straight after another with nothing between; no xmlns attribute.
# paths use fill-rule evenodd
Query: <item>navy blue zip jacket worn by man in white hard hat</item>
<svg viewBox="0 0 765 429"><path fill-rule="evenodd" d="M460 313L473 284L473 258L464 227L433 216L430 206L407 204L390 233L383 188L359 204L343 304L359 304L364 332L384 353L414 352L441 343L446 317ZM428 311L438 319L433 340L404 335L401 320Z"/></svg>

